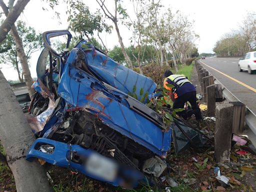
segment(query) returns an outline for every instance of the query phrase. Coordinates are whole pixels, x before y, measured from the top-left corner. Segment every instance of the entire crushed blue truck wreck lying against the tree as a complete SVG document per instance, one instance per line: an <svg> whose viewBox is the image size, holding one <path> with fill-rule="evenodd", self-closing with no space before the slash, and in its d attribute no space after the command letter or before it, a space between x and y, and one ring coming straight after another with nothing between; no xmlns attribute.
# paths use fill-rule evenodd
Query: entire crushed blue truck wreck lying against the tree
<svg viewBox="0 0 256 192"><path fill-rule="evenodd" d="M67 36L57 52L50 38ZM37 139L27 160L42 159L112 185L134 187L159 176L171 128L145 105L156 83L112 60L86 40L70 51L68 30L43 33L27 120ZM137 99L129 96L134 91ZM142 102L140 102L140 101Z"/></svg>

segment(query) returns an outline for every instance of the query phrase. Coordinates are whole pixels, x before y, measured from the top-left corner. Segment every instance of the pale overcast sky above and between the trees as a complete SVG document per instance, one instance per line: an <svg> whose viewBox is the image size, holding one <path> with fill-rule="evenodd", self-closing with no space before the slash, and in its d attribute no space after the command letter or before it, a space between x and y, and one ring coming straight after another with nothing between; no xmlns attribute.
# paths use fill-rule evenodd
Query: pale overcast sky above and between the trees
<svg viewBox="0 0 256 192"><path fill-rule="evenodd" d="M84 2L92 10L98 8L95 0L84 0ZM105 2L110 9L114 5L113 0L105 0ZM161 3L164 8L171 8L173 11L180 10L190 20L194 20L193 30L200 36L196 41L199 53L213 52L212 48L215 42L223 34L238 29L247 12L255 11L256 7L256 0L161 0ZM48 11L42 10L42 6L46 7L41 0L30 0L19 19L34 27L38 32L67 28L66 4L60 4L57 9L54 9L54 11L60 12L61 20L54 16L53 10L50 8ZM132 14L133 8L130 0L123 0L123 7L127 9L129 14ZM109 21L109 23L111 22ZM120 26L120 33L124 45L128 46L131 32L125 26ZM111 34L102 34L101 36L108 49L119 44L114 29ZM37 51L31 55L30 71L32 77L36 76L35 68L39 54L40 51ZM14 69L3 65L1 70L6 79L17 79Z"/></svg>

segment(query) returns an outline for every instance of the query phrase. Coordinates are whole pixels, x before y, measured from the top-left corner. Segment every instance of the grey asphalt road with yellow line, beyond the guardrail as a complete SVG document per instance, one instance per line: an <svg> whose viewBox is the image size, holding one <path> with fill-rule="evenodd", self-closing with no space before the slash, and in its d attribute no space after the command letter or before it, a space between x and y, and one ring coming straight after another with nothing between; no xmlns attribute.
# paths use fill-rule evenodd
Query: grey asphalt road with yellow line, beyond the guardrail
<svg viewBox="0 0 256 192"><path fill-rule="evenodd" d="M220 83L256 113L256 72L239 72L238 58L206 57L199 61Z"/></svg>

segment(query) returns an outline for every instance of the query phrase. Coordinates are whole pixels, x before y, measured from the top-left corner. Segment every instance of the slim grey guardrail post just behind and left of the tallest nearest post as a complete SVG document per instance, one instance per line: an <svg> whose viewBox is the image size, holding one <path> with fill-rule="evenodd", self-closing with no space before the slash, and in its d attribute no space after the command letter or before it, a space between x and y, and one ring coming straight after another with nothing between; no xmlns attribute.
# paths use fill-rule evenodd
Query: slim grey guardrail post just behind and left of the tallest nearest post
<svg viewBox="0 0 256 192"><path fill-rule="evenodd" d="M206 94L207 94L207 115L214 116L215 115L215 85L211 84L206 86Z"/></svg>

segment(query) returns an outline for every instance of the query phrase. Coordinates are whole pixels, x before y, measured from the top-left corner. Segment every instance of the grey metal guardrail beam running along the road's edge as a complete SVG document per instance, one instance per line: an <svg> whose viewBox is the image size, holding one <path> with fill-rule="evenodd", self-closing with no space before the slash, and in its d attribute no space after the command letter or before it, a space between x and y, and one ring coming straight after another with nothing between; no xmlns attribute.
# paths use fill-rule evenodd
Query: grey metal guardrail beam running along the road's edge
<svg viewBox="0 0 256 192"><path fill-rule="evenodd" d="M199 62L198 62L199 63ZM201 63L199 63L201 65ZM201 65L203 67L203 65ZM203 67L205 68L205 67ZM211 74L209 72L209 74ZM211 74L212 75L212 74ZM213 75L212 75L213 76ZM231 93L216 77L214 77L214 84L220 84L222 94L227 101L240 101L233 93ZM241 102L241 101L240 101ZM245 130L244 133L248 135L253 145L256 147L256 114L252 112L247 106L245 111L245 124L250 130Z"/></svg>

